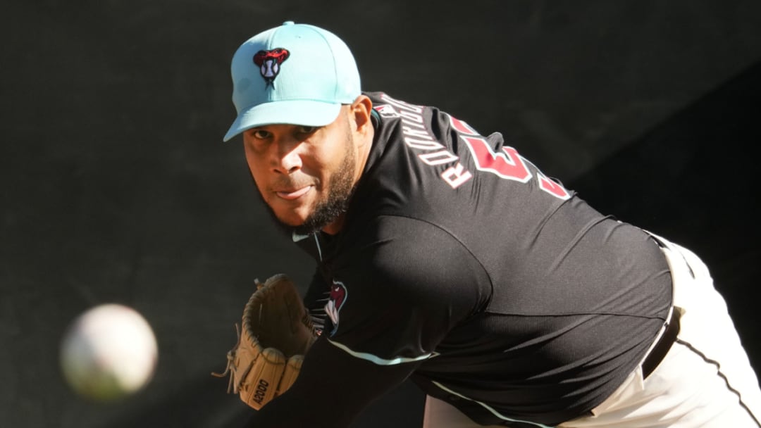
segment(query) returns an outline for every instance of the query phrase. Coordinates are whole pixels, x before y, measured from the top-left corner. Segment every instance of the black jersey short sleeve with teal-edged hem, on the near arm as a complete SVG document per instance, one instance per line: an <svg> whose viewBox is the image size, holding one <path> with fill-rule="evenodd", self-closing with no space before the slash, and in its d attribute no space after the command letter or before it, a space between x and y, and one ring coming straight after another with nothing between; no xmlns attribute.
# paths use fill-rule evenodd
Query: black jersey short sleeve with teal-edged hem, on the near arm
<svg viewBox="0 0 761 428"><path fill-rule="evenodd" d="M447 331L486 306L491 285L446 230L382 216L355 251L336 260L327 339L353 357L396 365L435 357Z"/></svg>

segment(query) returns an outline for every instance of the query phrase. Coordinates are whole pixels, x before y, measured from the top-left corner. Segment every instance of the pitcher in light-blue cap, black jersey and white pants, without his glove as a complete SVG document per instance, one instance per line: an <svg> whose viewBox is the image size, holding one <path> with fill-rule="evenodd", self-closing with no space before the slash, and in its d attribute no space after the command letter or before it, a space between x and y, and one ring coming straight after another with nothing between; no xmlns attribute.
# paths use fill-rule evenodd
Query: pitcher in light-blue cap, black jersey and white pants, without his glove
<svg viewBox="0 0 761 428"><path fill-rule="evenodd" d="M497 133L362 92L327 30L259 33L231 73L224 141L242 135L263 201L316 260L321 332L247 426L349 426L406 379L428 428L761 426L693 252L591 208Z"/></svg>

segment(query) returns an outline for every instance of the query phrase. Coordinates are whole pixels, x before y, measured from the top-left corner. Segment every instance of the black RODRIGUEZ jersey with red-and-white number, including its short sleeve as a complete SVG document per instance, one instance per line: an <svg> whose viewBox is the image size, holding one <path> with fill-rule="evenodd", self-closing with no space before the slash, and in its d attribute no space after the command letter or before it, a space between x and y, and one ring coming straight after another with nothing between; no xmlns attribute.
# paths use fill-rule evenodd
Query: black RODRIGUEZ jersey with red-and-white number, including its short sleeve
<svg viewBox="0 0 761 428"><path fill-rule="evenodd" d="M553 425L600 404L670 308L658 246L501 135L367 95L374 143L342 231L295 236L318 262L306 300L324 339L412 365L428 395L482 424Z"/></svg>

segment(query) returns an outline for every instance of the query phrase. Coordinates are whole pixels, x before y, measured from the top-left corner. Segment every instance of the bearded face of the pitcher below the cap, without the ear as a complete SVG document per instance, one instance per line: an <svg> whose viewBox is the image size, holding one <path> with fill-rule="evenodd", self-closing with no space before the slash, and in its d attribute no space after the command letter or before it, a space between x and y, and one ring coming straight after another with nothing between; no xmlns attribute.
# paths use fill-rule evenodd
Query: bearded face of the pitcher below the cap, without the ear
<svg viewBox="0 0 761 428"><path fill-rule="evenodd" d="M329 125L264 125L244 132L246 160L277 220L298 233L345 211L356 181L356 147L344 106Z"/></svg>

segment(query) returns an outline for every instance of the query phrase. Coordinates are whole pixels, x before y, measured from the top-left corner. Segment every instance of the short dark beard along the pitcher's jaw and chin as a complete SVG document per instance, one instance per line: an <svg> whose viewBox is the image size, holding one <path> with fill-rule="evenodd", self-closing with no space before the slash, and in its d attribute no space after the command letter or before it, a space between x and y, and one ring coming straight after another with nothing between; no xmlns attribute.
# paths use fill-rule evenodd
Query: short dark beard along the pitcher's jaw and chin
<svg viewBox="0 0 761 428"><path fill-rule="evenodd" d="M293 233L308 235L317 232L328 224L333 223L333 221L337 220L338 217L349 209L349 201L351 200L355 189L354 176L356 172L356 156L353 146L352 135L347 133L345 156L339 164L336 173L330 177L327 197L321 201L317 201L317 204L314 206L314 211L312 211L312 214L304 220L303 224L293 226L280 220L277 214L275 214L275 211L272 210L272 207L266 203L261 193L258 191L256 192L256 194L259 195L260 200L266 206L270 217L272 217L272 220L275 220L275 224L283 233L290 237ZM254 185L256 185L256 182Z"/></svg>

